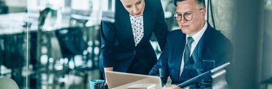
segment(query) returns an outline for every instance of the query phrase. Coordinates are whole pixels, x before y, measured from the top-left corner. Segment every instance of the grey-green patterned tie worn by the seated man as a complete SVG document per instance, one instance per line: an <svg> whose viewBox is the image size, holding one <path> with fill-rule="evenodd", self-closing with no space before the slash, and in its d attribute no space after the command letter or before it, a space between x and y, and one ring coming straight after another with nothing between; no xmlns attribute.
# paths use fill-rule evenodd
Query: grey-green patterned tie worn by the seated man
<svg viewBox="0 0 272 89"><path fill-rule="evenodd" d="M186 44L186 47L185 47L185 51L184 51L184 65L187 64L187 62L189 61L189 58L190 58L190 51L191 51L191 45L192 45L192 42L194 40L192 39L192 37L188 37L187 38L187 44Z"/></svg>

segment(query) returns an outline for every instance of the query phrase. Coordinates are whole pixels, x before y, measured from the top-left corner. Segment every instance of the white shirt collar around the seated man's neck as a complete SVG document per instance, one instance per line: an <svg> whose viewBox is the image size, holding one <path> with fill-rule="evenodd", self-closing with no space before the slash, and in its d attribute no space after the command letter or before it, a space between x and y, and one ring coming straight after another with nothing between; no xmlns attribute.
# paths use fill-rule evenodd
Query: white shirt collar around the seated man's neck
<svg viewBox="0 0 272 89"><path fill-rule="evenodd" d="M195 42L198 43L199 40L200 40L200 38L202 37L202 35L203 35L204 32L206 31L207 27L208 27L208 24L207 24L207 21L205 21L205 24L204 24L204 26L202 27L202 29L201 29L198 33L196 33L195 35L191 36L192 39L193 39ZM187 38L188 38L188 37L189 37L189 36L186 34L186 42L187 42Z"/></svg>

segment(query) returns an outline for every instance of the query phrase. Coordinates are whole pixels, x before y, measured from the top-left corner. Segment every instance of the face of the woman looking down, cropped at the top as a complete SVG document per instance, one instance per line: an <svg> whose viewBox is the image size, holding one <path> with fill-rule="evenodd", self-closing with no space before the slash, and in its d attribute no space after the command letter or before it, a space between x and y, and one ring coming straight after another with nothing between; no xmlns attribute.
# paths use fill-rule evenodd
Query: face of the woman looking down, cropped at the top
<svg viewBox="0 0 272 89"><path fill-rule="evenodd" d="M144 0L120 0L125 7L125 9L132 16L142 16L145 9L145 1Z"/></svg>

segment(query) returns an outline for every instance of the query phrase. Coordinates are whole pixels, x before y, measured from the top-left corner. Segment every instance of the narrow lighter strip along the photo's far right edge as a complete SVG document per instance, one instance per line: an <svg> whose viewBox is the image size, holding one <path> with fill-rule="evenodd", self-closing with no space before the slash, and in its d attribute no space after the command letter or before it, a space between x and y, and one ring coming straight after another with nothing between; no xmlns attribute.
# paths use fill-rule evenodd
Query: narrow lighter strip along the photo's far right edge
<svg viewBox="0 0 272 89"><path fill-rule="evenodd" d="M262 44L262 76L261 83L264 88L271 88L272 84L272 1L266 0L264 3L264 32Z"/></svg>

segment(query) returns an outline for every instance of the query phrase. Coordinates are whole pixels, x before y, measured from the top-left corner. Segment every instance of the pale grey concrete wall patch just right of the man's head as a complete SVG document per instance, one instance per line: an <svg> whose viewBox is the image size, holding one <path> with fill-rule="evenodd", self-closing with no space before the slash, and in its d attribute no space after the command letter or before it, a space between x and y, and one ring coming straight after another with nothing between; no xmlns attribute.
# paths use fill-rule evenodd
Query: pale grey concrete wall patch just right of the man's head
<svg viewBox="0 0 272 89"><path fill-rule="evenodd" d="M206 0L207 1L207 0ZM220 30L227 38L232 40L232 30L236 23L233 17L236 9L234 6L236 0L212 0L213 17L215 18L216 29ZM206 3L207 5L207 3ZM209 23L213 26L211 14L209 12ZM214 26L213 26L214 27Z"/></svg>

